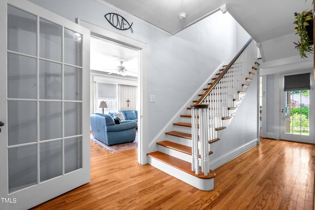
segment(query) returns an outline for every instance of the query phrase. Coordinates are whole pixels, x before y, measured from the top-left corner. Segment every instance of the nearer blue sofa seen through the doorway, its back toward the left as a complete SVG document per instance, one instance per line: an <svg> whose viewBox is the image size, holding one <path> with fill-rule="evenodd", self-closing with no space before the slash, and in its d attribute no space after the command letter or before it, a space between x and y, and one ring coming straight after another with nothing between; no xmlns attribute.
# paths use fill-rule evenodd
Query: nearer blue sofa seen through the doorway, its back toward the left
<svg viewBox="0 0 315 210"><path fill-rule="evenodd" d="M137 127L135 121L115 124L111 116L100 113L93 113L90 118L93 137L108 146L133 142L135 139Z"/></svg>

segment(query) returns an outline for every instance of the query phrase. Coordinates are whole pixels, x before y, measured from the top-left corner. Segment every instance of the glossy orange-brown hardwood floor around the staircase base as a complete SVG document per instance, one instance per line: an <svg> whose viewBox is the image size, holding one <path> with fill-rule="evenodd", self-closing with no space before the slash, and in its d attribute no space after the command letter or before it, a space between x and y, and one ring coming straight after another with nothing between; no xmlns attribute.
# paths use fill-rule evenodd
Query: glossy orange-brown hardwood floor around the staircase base
<svg viewBox="0 0 315 210"><path fill-rule="evenodd" d="M91 182L35 210L313 210L315 145L261 139L216 170L198 190L150 165L137 149L109 153L91 144Z"/></svg>

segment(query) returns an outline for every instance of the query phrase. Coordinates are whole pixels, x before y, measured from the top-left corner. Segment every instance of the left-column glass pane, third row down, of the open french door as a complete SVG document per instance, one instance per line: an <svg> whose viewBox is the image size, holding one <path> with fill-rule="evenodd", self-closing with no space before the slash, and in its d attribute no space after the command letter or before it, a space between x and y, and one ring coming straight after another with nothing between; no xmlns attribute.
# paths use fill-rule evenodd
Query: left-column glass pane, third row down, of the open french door
<svg viewBox="0 0 315 210"><path fill-rule="evenodd" d="M36 142L36 102L8 101L8 145Z"/></svg>

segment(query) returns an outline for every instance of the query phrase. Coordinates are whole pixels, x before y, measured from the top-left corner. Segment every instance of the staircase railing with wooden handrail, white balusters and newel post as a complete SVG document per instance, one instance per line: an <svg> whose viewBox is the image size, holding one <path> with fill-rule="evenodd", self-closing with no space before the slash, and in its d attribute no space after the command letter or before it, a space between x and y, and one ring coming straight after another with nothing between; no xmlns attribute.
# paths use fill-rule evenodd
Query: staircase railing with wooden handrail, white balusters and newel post
<svg viewBox="0 0 315 210"><path fill-rule="evenodd" d="M240 91L248 87L247 78L252 79L252 65L257 61L256 42L252 38L245 44L234 59L214 79L210 87L191 107L191 171L199 174L200 142L201 172L205 176L209 169L209 141L217 138L217 130L222 127L222 119L231 117L230 108L238 107ZM199 124L198 124L199 121Z"/></svg>

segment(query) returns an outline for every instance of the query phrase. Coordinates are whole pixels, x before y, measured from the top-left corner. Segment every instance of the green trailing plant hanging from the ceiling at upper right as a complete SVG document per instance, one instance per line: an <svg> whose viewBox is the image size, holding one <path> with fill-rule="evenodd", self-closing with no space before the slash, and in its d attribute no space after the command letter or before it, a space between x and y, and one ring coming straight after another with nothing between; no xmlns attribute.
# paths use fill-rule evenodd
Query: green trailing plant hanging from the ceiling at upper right
<svg viewBox="0 0 315 210"><path fill-rule="evenodd" d="M314 40L313 40L313 10L303 11L301 13L294 13L295 21L295 34L300 36L298 43L295 44L295 48L298 49L301 58L307 58L306 53L313 53Z"/></svg>

